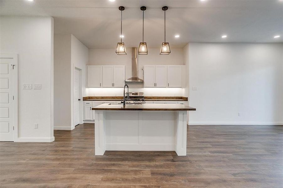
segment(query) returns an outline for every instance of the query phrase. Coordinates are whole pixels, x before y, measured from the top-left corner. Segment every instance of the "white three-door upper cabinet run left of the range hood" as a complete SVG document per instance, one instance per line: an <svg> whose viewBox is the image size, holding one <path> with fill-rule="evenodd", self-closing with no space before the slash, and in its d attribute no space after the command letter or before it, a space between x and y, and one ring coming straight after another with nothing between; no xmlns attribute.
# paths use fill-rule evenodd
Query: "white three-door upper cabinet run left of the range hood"
<svg viewBox="0 0 283 188"><path fill-rule="evenodd" d="M125 65L87 65L88 87L124 87Z"/></svg>

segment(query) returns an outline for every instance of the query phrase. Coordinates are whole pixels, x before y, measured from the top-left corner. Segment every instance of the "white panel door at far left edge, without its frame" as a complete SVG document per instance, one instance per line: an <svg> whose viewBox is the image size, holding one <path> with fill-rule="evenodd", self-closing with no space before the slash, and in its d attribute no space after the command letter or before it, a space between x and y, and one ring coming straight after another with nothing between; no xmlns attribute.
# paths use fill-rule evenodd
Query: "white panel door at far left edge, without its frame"
<svg viewBox="0 0 283 188"><path fill-rule="evenodd" d="M14 58L0 59L0 141L14 141L14 62Z"/></svg>

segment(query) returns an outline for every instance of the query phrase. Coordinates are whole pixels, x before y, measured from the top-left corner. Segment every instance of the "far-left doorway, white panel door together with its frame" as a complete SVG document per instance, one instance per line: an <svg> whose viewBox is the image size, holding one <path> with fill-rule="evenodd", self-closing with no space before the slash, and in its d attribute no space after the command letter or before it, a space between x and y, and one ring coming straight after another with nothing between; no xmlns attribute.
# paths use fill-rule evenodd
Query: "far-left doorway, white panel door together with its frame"
<svg viewBox="0 0 283 188"><path fill-rule="evenodd" d="M18 55L0 55L0 141L18 138Z"/></svg>

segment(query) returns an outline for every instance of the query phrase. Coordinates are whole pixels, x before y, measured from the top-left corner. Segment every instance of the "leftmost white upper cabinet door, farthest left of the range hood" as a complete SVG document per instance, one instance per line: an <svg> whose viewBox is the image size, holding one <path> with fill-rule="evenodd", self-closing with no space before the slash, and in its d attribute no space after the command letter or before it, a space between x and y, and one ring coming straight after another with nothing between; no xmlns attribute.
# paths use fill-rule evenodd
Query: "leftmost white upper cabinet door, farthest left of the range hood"
<svg viewBox="0 0 283 188"><path fill-rule="evenodd" d="M87 86L88 87L101 87L102 81L102 66L90 65L87 66Z"/></svg>

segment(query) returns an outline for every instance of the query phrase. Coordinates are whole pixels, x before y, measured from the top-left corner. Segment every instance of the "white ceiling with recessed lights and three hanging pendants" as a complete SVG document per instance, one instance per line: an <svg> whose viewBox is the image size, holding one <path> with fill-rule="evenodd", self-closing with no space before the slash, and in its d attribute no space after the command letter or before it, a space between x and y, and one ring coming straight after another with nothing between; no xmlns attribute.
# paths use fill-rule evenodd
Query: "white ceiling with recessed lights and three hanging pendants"
<svg viewBox="0 0 283 188"><path fill-rule="evenodd" d="M182 48L188 42L283 42L282 0L1 0L1 15L52 16L54 33L69 33L88 48L116 48L123 11L126 47L142 41L159 48L164 41ZM176 39L175 34L180 38ZM222 39L221 35L228 37ZM281 35L274 39L273 36Z"/></svg>

